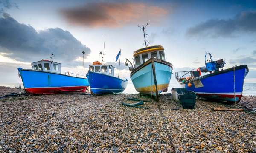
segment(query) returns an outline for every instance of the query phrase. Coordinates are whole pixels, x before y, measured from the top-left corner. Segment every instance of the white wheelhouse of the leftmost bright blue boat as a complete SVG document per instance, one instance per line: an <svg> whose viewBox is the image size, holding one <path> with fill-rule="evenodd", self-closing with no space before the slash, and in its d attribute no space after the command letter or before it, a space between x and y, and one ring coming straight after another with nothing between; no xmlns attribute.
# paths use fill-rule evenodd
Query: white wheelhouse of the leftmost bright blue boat
<svg viewBox="0 0 256 153"><path fill-rule="evenodd" d="M31 65L33 70L61 73L61 63L49 60L41 60L38 62L32 62Z"/></svg>

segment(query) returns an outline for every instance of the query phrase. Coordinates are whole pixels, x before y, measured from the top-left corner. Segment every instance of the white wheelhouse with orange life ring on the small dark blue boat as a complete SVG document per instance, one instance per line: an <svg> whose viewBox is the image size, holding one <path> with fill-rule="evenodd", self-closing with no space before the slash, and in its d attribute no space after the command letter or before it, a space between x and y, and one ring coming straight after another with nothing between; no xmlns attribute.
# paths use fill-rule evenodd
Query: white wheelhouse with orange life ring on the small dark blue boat
<svg viewBox="0 0 256 153"><path fill-rule="evenodd" d="M107 74L114 76L115 67L112 65L107 64L101 64L100 62L96 61L93 62L93 65L89 65L89 70L91 72L101 73L101 74Z"/></svg>

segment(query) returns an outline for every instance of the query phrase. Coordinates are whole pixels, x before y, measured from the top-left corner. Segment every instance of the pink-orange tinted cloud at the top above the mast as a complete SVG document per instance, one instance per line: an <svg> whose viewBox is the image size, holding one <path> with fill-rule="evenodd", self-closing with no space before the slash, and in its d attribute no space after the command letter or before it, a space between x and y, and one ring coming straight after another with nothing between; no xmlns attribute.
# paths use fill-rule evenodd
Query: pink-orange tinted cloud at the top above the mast
<svg viewBox="0 0 256 153"><path fill-rule="evenodd" d="M99 2L62 9L61 14L72 25L116 28L129 23L141 22L148 17L151 22L156 23L167 14L167 11L145 3Z"/></svg>

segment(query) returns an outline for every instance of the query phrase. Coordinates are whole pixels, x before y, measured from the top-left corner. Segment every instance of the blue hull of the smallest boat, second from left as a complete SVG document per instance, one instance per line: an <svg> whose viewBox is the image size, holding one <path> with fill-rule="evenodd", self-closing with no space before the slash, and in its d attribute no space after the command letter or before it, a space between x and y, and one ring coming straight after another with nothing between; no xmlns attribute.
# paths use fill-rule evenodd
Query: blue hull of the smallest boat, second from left
<svg viewBox="0 0 256 153"><path fill-rule="evenodd" d="M121 93L128 83L128 80L91 71L86 76L89 80L92 94Z"/></svg>

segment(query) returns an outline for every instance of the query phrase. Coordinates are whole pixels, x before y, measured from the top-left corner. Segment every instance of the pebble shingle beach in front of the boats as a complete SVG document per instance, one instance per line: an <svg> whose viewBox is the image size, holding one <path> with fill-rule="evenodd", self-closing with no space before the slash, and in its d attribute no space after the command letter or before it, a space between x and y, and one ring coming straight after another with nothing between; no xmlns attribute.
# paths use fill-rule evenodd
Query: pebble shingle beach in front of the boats
<svg viewBox="0 0 256 153"><path fill-rule="evenodd" d="M0 87L0 96L19 89ZM150 109L121 105L139 94L0 99L0 152L256 152L256 114L197 99L195 109L160 96ZM239 104L256 108L256 96ZM173 110L173 108L181 108Z"/></svg>

